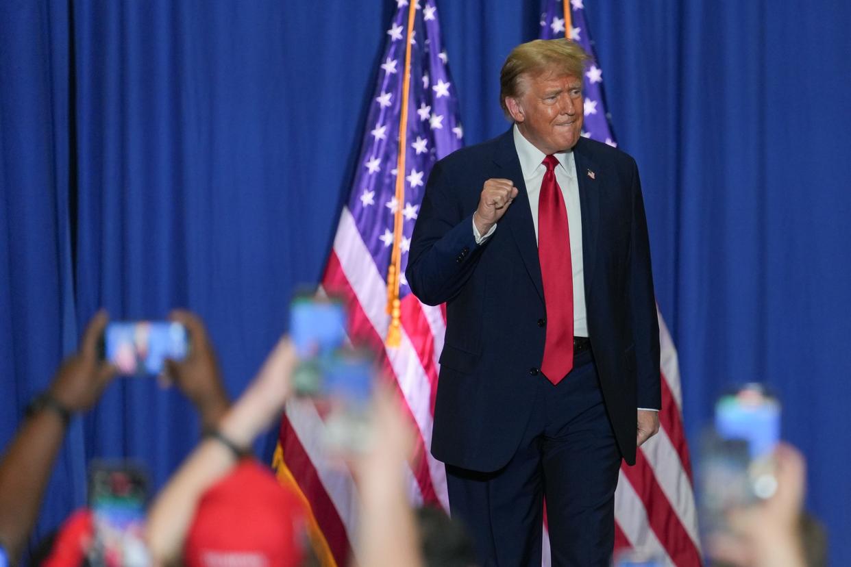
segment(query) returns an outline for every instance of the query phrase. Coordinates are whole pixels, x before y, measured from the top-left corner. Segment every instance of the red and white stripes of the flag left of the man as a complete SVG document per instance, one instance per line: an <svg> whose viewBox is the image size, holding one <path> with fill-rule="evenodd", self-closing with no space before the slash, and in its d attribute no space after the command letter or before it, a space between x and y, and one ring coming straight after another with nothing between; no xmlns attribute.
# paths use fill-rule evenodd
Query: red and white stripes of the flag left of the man
<svg viewBox="0 0 851 567"><path fill-rule="evenodd" d="M386 282L347 207L340 215L322 286L324 292L346 299L351 338L386 354L384 370L395 380L403 410L418 432L416 455L406 472L411 501L441 506L448 511L446 469L430 451L437 360L446 330L442 310L420 303L409 294L401 306L402 340L397 348L386 347L384 337L390 325ZM311 405L288 405L281 435L283 461L311 502L336 563L346 564L350 553L357 559L357 550L353 549L357 491L351 473L323 456L320 439L323 427L322 419Z"/></svg>

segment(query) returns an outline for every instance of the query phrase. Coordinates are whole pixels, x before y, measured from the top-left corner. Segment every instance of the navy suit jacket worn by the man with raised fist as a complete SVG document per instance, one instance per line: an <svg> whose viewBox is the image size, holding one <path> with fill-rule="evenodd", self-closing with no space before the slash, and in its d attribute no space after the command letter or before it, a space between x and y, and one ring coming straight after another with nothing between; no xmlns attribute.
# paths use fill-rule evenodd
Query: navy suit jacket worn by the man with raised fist
<svg viewBox="0 0 851 567"><path fill-rule="evenodd" d="M580 138L574 147L582 215L585 308L608 417L620 452L636 456L636 411L659 408L659 323L647 221L631 156ZM511 179L517 198L494 234L472 230L485 180ZM424 303L447 303L431 452L477 471L517 451L544 354L544 290L512 131L437 162L406 269Z"/></svg>

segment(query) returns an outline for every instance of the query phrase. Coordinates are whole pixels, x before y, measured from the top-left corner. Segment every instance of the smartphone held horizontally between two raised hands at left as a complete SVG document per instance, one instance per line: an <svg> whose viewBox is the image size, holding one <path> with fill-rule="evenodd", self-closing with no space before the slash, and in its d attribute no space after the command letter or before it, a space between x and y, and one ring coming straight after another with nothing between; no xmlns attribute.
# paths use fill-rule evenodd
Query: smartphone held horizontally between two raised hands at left
<svg viewBox="0 0 851 567"><path fill-rule="evenodd" d="M106 326L103 356L124 375L159 374L166 359L189 354L189 332L174 321L116 321Z"/></svg>

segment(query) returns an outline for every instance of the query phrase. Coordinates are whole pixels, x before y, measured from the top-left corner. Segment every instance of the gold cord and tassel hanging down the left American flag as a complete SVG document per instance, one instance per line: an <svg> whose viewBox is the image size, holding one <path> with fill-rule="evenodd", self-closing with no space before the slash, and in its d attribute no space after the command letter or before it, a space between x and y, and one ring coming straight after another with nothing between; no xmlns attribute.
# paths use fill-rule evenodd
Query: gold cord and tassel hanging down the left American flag
<svg viewBox="0 0 851 567"><path fill-rule="evenodd" d="M408 133L408 94L411 83L411 40L414 37L414 17L416 2L411 2L408 8L408 34L405 45L405 66L402 79L402 111L399 116L399 156L396 164L396 211L393 213L393 250L390 266L387 268L387 314L391 316L390 327L387 329L385 344L397 347L402 340L400 317L402 309L399 304L399 276L402 271L402 207L405 201L405 149L407 148Z"/></svg>

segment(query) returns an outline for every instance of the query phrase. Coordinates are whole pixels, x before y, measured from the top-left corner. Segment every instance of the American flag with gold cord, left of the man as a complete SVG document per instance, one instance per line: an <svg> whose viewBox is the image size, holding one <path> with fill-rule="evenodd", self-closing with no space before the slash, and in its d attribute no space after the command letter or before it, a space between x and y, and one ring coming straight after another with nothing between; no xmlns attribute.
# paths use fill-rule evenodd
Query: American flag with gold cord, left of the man
<svg viewBox="0 0 851 567"><path fill-rule="evenodd" d="M386 31L357 172L322 287L346 298L351 339L385 354L386 374L395 379L404 411L419 432L406 470L411 501L448 510L445 469L429 451L446 322L440 307L424 305L410 292L404 269L428 174L438 159L461 147L463 130L434 0L410 1L397 0ZM388 278L391 264L397 285ZM394 320L388 294L391 306L398 299L397 344L387 340ZM323 564L357 562L357 490L351 474L323 453L322 430L310 405L288 405L273 465L278 478L309 503Z"/></svg>

